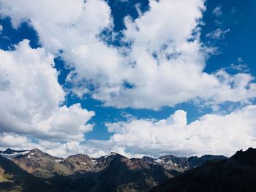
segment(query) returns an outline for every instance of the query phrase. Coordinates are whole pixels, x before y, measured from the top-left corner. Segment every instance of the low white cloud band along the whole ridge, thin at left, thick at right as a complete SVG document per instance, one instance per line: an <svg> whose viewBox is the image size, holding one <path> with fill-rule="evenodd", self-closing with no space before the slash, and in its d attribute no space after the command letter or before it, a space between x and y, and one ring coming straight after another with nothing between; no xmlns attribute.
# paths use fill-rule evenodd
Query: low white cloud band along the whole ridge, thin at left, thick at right
<svg viewBox="0 0 256 192"><path fill-rule="evenodd" d="M34 144L17 134L1 134L0 145L39 147L61 157L74 153L99 157L111 151L128 157L150 155L157 158L165 154L230 156L237 150L256 147L255 115L256 106L249 105L226 115L203 115L187 123L187 112L177 110L162 120L131 119L128 122L107 123L108 131L113 133L108 140L66 143L39 140Z"/></svg>

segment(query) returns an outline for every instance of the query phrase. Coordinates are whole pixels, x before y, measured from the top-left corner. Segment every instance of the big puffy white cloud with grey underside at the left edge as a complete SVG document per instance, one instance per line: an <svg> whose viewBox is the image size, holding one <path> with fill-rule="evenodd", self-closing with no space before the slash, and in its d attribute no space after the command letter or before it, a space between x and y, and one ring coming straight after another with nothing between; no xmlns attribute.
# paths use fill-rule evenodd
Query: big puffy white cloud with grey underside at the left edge
<svg viewBox="0 0 256 192"><path fill-rule="evenodd" d="M28 40L13 51L0 50L0 133L15 132L36 139L81 141L91 131L94 116L73 104L57 80L53 55L32 49Z"/></svg>

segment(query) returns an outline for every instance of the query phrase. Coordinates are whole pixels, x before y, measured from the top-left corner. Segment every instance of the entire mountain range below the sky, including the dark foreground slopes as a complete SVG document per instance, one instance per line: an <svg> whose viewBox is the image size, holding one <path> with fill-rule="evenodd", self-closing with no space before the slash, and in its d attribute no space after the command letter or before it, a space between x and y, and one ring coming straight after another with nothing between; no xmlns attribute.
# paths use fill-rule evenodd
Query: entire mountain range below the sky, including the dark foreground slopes
<svg viewBox="0 0 256 192"><path fill-rule="evenodd" d="M0 152L0 191L255 191L256 149L230 158L99 158L77 154L58 158L38 149Z"/></svg>

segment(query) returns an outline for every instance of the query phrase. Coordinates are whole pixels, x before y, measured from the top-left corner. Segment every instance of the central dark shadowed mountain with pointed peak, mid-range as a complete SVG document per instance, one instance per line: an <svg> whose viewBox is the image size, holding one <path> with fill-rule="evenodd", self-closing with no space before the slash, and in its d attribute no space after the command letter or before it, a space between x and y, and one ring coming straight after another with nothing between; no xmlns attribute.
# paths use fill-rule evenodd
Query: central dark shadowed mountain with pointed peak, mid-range
<svg viewBox="0 0 256 192"><path fill-rule="evenodd" d="M97 159L99 172L83 172L67 177L53 177L52 183L67 191L148 191L152 186L180 174L159 164L129 159L117 153Z"/></svg>

